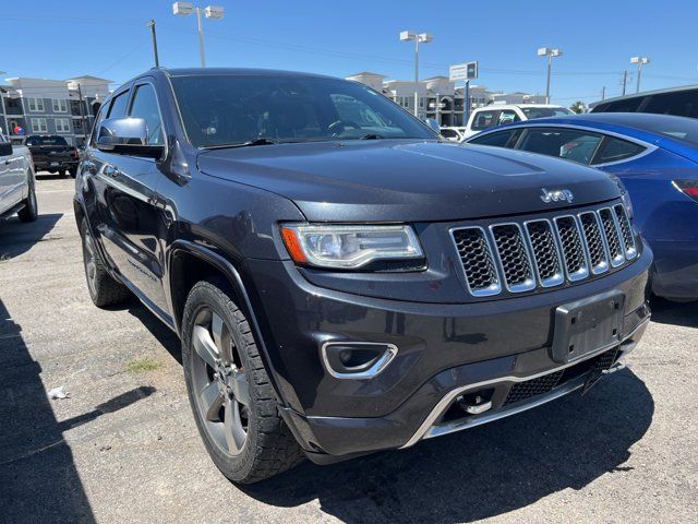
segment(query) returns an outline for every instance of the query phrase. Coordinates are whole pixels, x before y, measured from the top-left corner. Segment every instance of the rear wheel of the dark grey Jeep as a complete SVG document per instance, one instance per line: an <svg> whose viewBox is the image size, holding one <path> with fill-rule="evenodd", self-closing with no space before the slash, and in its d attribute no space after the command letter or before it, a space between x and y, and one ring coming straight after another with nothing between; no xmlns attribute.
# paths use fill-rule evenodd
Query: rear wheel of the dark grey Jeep
<svg viewBox="0 0 698 524"><path fill-rule="evenodd" d="M87 291L93 303L98 308L105 308L129 300L131 298L129 289L120 282L115 281L101 263L97 247L84 218L80 233L83 241L83 265L85 266Z"/></svg>

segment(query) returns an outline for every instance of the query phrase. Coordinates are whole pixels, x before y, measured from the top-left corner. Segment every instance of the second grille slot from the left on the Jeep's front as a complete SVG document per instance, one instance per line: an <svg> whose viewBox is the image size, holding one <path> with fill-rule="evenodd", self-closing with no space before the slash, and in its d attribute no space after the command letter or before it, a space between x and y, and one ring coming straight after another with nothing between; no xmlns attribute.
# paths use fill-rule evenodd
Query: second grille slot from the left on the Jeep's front
<svg viewBox="0 0 698 524"><path fill-rule="evenodd" d="M491 226L490 230L507 289L512 293L533 289L533 269L519 225L497 224Z"/></svg>

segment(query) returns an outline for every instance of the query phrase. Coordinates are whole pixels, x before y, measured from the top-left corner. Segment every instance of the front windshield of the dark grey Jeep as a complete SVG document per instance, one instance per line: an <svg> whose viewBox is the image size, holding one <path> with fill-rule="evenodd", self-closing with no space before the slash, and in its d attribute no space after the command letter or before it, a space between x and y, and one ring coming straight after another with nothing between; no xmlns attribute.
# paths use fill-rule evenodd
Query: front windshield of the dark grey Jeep
<svg viewBox="0 0 698 524"><path fill-rule="evenodd" d="M407 111L359 83L314 76L221 74L172 78L197 147L324 140L436 139Z"/></svg>

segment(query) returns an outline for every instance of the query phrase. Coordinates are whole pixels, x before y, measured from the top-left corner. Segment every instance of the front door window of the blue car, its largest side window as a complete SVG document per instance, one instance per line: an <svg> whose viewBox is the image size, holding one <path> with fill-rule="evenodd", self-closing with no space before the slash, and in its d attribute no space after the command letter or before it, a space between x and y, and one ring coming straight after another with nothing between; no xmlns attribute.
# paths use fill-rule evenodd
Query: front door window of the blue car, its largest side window
<svg viewBox="0 0 698 524"><path fill-rule="evenodd" d="M590 164L601 138L581 129L531 128L521 139L519 150Z"/></svg>

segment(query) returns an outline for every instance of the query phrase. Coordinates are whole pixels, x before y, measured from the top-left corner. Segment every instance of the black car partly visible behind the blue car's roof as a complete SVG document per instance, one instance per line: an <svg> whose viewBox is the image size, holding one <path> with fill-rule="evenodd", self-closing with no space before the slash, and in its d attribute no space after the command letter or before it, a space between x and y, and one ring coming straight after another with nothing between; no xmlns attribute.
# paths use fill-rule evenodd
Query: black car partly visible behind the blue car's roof
<svg viewBox="0 0 698 524"><path fill-rule="evenodd" d="M698 85L609 98L591 104L590 112L653 112L698 118Z"/></svg>

